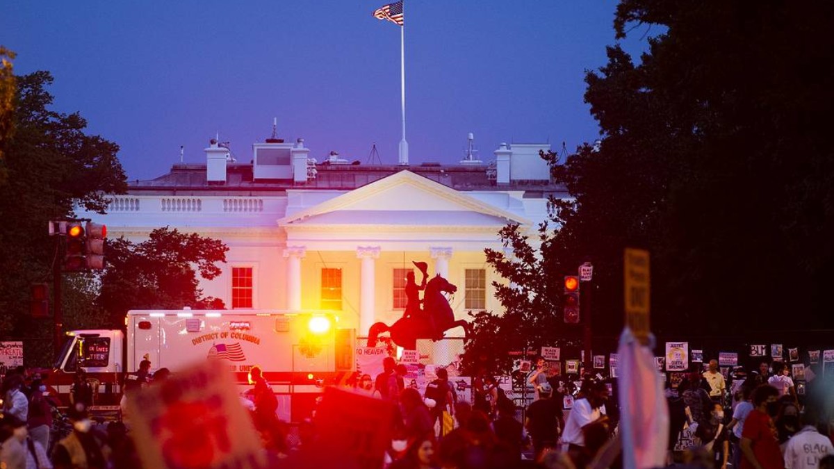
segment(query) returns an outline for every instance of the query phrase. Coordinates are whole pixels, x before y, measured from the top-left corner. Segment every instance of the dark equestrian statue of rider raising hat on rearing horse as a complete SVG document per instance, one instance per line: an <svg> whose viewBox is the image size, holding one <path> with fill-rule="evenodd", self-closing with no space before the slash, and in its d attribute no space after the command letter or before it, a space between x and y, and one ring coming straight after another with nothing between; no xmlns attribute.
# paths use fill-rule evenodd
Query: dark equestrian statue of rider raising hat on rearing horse
<svg viewBox="0 0 834 469"><path fill-rule="evenodd" d="M414 282L413 270L405 275L407 303L403 317L392 325L386 325L384 322L371 325L368 331L369 347L376 345L377 337L384 332L389 332L394 344L406 350L416 350L417 339L440 340L446 330L458 326L464 328L464 336L468 335L469 323L466 320L455 320L449 300L446 300L443 295L444 292L454 294L458 287L450 284L449 280L441 277L440 274L426 282L428 265L425 262L414 262L414 265L423 274L423 280L420 285L417 285ZM420 291L425 291L422 300L420 300Z"/></svg>

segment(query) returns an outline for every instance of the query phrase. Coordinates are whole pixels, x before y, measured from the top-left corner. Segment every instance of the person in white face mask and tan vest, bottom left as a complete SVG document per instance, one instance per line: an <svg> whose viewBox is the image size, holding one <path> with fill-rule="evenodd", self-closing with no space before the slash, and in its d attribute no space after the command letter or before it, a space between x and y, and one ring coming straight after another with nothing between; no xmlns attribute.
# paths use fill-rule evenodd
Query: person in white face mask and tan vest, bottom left
<svg viewBox="0 0 834 469"><path fill-rule="evenodd" d="M104 444L104 436L93 429L87 407L77 403L69 408L67 416L73 422L73 432L55 446L53 464L56 469L105 469L110 448Z"/></svg>

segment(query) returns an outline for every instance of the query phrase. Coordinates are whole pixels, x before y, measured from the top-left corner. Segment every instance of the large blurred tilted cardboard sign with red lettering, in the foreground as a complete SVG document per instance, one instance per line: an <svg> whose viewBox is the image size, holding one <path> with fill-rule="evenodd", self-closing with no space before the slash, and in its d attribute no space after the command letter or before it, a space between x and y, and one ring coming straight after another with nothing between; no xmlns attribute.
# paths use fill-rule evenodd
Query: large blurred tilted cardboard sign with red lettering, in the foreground
<svg viewBox="0 0 834 469"><path fill-rule="evenodd" d="M228 368L204 361L128 395L131 432L145 467L266 467Z"/></svg>

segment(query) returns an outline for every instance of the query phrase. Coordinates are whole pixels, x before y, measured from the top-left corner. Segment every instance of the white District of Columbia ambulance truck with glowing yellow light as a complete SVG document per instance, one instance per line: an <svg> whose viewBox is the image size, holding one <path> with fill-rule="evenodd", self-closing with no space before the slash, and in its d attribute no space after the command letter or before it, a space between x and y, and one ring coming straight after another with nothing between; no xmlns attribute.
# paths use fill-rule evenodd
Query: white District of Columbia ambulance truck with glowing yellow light
<svg viewBox="0 0 834 469"><path fill-rule="evenodd" d="M69 403L79 370L93 384L96 405L114 405L127 373L151 362L151 371L172 373L207 359L224 361L244 391L249 371L260 366L279 397L279 417L309 416L326 385L355 371L353 329L339 329L327 311L131 310L122 330L73 330L58 355L48 384Z"/></svg>

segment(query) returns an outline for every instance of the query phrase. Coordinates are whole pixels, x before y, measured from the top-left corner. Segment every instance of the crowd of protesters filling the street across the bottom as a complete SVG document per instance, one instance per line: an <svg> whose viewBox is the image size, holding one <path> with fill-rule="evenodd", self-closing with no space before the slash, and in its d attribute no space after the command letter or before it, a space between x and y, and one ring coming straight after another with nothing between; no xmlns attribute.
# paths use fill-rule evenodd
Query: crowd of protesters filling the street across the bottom
<svg viewBox="0 0 834 469"><path fill-rule="evenodd" d="M407 370L393 357L377 376L357 374L353 391L389 401L397 411L384 452L389 469L490 469L511 467L620 467L621 448L615 383L585 377L577 389L545 369L544 360L524 376L535 389L531 402L507 396L495 376L482 373L472 383L474 399L459 396L448 372L420 393L407 382ZM125 394L165 381L168 371L150 373L143 362L128 376ZM624 371L627 372L627 371ZM56 435L59 406L43 376L23 368L3 377L0 465L8 468L138 468L130 433L133 411L122 402L122 418L104 425L91 420L94 390L82 373L73 386L66 416L68 431ZM250 372L252 388L241 396L269 466L306 467L305 462L334 456L322 451L320 421L314 416L291 431L276 415L278 400L259 367ZM570 386L568 382L570 381ZM614 384L614 386L612 386ZM706 370L689 371L680 383L667 382L670 416L667 465L719 469L834 468L831 399L824 386L815 398L796 392L783 363L761 363L747 374L730 376L716 361ZM515 400L512 398L515 397ZM826 400L829 406L826 406ZM569 405L570 404L570 405ZM318 466L328 466L319 464ZM349 467L348 461L339 462Z"/></svg>

